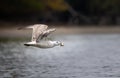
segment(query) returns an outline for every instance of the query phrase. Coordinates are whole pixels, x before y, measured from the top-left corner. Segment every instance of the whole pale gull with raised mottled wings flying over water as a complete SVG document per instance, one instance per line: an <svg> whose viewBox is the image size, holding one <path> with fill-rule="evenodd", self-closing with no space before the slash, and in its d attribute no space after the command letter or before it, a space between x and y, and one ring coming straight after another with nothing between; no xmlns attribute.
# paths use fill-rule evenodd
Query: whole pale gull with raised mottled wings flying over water
<svg viewBox="0 0 120 78"><path fill-rule="evenodd" d="M56 29L47 29L48 25L34 24L21 29L33 29L31 42L25 43L25 46L34 46L38 48L53 48L55 46L64 46L60 41L47 40L47 36L54 32Z"/></svg>

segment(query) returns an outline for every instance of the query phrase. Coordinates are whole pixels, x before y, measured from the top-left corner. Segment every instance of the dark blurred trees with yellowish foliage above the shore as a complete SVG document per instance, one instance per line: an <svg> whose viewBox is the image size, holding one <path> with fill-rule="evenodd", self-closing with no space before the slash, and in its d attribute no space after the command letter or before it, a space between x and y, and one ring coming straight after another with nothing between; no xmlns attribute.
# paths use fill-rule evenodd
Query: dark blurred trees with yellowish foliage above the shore
<svg viewBox="0 0 120 78"><path fill-rule="evenodd" d="M0 23L119 25L120 0L0 0Z"/></svg>

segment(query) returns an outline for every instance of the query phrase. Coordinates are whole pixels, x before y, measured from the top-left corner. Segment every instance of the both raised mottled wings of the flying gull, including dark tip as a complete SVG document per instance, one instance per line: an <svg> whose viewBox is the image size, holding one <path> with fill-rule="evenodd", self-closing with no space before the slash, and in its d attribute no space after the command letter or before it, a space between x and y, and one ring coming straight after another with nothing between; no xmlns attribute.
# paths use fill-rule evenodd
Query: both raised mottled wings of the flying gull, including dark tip
<svg viewBox="0 0 120 78"><path fill-rule="evenodd" d="M35 41L35 42L37 42L38 39L42 40L44 37L47 37L49 34L51 34L56 30L55 28L47 30L48 26L45 24L35 24L35 25L27 26L25 28L18 28L18 29L28 29L28 28L33 29L31 41Z"/></svg>

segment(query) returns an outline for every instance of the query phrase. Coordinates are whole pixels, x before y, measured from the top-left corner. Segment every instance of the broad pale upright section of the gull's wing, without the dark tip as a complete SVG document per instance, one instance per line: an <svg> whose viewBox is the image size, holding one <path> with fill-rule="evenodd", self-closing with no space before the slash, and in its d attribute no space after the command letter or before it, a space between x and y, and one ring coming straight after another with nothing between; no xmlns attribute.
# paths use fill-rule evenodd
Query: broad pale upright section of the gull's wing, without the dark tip
<svg viewBox="0 0 120 78"><path fill-rule="evenodd" d="M33 25L33 33L31 41L37 41L40 35L48 28L47 25L44 24L35 24Z"/></svg>

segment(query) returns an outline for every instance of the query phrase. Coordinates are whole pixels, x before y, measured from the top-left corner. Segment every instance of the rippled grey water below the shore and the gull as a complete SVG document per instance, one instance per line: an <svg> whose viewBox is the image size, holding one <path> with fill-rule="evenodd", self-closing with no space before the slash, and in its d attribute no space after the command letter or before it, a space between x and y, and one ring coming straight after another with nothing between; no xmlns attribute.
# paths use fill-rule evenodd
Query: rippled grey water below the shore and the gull
<svg viewBox="0 0 120 78"><path fill-rule="evenodd" d="M64 47L0 43L0 78L120 78L120 34L61 35Z"/></svg>

